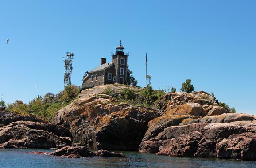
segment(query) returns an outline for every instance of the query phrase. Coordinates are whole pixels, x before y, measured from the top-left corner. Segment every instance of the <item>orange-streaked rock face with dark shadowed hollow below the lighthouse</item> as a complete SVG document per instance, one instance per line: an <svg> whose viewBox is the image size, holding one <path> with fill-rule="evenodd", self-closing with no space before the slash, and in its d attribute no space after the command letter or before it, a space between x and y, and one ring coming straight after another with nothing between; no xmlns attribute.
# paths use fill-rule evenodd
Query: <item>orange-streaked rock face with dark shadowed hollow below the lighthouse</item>
<svg viewBox="0 0 256 168"><path fill-rule="evenodd" d="M127 87L109 86L116 93ZM147 123L159 116L159 110L116 103L113 97L102 94L106 87L83 90L78 100L56 112L53 123L70 130L74 146L138 150Z"/></svg>

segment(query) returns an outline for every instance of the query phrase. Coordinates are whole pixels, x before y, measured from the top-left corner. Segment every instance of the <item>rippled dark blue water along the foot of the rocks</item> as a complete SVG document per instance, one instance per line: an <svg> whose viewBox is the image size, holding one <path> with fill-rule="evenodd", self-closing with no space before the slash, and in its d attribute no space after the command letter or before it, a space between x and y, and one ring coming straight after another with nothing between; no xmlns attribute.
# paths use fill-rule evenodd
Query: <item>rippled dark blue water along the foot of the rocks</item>
<svg viewBox="0 0 256 168"><path fill-rule="evenodd" d="M122 152L127 158L62 158L30 154L47 149L0 149L0 168L252 168L256 161L167 157L138 152Z"/></svg>

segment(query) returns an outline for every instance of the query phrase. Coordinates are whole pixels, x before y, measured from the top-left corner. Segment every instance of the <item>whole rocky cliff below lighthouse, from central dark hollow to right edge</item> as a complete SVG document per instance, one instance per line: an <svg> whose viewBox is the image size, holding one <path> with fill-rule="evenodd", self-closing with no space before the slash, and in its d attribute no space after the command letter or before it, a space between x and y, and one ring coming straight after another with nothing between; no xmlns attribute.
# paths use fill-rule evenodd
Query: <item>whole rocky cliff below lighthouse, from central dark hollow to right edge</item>
<svg viewBox="0 0 256 168"><path fill-rule="evenodd" d="M107 85L115 95L125 85ZM255 159L256 117L230 113L210 94L167 93L158 108L119 103L107 86L83 90L56 112L53 123L66 127L74 146L138 150L181 157ZM132 87L133 93L140 88Z"/></svg>

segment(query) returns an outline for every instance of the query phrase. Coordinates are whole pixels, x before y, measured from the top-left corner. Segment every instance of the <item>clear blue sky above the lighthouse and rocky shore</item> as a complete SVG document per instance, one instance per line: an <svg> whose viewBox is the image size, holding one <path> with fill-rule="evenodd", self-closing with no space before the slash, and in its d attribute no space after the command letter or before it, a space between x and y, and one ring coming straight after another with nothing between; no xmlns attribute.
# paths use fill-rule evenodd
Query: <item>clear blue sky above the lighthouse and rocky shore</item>
<svg viewBox="0 0 256 168"><path fill-rule="evenodd" d="M122 40L139 86L147 52L155 89L179 90L190 78L195 90L256 114L255 7L255 0L1 0L0 94L28 102L62 90L65 52L75 54L72 83L81 85L83 72L101 57L110 62Z"/></svg>

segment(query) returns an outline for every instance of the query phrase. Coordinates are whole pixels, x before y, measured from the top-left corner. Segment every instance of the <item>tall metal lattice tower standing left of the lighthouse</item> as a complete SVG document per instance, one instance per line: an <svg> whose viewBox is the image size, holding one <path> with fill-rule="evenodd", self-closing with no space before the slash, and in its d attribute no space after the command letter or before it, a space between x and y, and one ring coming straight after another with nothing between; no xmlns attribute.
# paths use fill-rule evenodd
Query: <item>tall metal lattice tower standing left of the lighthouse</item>
<svg viewBox="0 0 256 168"><path fill-rule="evenodd" d="M72 74L72 62L73 62L73 57L75 55L71 52L66 52L66 58L63 61L65 62L65 75L64 75L64 89L66 86L71 85L71 74Z"/></svg>

